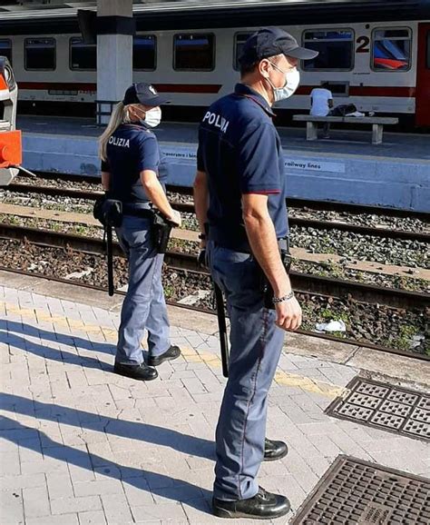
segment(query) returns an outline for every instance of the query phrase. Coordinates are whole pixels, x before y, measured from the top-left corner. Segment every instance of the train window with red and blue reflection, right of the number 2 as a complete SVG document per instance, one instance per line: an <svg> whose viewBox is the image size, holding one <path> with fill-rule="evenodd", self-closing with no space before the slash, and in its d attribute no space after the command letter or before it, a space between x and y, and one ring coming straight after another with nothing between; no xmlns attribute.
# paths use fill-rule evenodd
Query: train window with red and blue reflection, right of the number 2
<svg viewBox="0 0 430 525"><path fill-rule="evenodd" d="M411 30L375 29L372 34L372 69L406 71L411 66Z"/></svg>

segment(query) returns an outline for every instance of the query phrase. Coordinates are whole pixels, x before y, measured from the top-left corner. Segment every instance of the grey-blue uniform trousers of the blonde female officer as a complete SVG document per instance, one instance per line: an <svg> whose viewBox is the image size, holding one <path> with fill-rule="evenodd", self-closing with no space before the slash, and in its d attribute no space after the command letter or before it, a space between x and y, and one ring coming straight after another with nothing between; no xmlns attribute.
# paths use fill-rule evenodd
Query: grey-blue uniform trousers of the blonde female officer
<svg viewBox="0 0 430 525"><path fill-rule="evenodd" d="M122 303L115 357L115 361L122 364L143 362L141 341L145 329L150 355L161 355L171 346L161 284L163 254L155 251L150 226L150 219L124 215L122 225L116 228L129 261L129 287Z"/></svg>

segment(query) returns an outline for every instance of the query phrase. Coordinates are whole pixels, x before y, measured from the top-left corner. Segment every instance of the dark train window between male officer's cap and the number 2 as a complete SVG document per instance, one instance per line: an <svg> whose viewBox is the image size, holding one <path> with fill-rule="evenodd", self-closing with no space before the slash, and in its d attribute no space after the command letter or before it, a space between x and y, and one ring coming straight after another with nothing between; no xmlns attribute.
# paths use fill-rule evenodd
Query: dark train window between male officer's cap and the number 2
<svg viewBox="0 0 430 525"><path fill-rule="evenodd" d="M352 29L305 31L303 45L318 51L318 56L302 62L305 71L349 71L354 66L354 32Z"/></svg>

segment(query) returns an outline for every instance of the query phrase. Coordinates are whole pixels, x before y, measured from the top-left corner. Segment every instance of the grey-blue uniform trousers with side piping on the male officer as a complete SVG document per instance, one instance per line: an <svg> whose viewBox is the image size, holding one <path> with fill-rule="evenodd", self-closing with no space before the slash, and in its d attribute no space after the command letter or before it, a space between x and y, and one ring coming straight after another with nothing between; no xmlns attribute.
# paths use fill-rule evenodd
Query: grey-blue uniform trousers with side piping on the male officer
<svg viewBox="0 0 430 525"><path fill-rule="evenodd" d="M213 494L220 500L244 500L259 490L268 393L284 332L275 324L275 311L264 308L261 270L252 255L212 242L207 253L230 313L230 372L216 431Z"/></svg>

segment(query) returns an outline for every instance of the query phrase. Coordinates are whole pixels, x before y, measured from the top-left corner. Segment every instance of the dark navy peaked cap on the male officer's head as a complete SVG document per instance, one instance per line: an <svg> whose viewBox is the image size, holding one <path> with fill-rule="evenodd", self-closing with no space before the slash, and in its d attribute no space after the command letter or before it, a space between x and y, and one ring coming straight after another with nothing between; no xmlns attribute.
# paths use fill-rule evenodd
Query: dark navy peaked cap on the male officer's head
<svg viewBox="0 0 430 525"><path fill-rule="evenodd" d="M263 58L285 54L300 60L309 60L318 55L318 51L300 47L294 36L280 27L262 27L249 36L239 56L240 65L256 64Z"/></svg>

